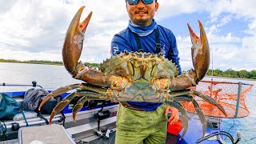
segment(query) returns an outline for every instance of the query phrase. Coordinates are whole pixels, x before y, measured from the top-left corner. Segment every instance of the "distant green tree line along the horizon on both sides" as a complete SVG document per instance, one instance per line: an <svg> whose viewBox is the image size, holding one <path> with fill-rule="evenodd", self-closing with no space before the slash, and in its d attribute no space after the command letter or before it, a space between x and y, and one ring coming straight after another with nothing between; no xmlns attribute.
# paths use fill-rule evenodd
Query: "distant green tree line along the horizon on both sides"
<svg viewBox="0 0 256 144"><path fill-rule="evenodd" d="M61 61L43 61L43 60L29 60L29 61L18 61L14 59L2 59L0 58L0 62L16 62L16 63L33 63L33 64L45 64L45 65L63 65L63 62ZM98 63L90 63L85 62L86 66L94 66L98 67ZM256 79L256 70L232 70L228 69L225 71L216 69L216 70L208 70L207 75L211 76L218 76L218 77L228 77L228 78L250 78L250 79Z"/></svg>

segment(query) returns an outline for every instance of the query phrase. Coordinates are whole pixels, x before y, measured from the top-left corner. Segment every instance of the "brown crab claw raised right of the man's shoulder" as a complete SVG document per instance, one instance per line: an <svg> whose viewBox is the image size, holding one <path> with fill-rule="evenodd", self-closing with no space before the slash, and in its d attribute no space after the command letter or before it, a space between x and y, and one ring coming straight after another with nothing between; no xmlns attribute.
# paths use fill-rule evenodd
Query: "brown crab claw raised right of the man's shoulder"
<svg viewBox="0 0 256 144"><path fill-rule="evenodd" d="M191 42L193 44L191 52L192 62L196 73L196 78L194 79L196 83L204 78L210 65L210 50L206 32L203 29L202 23L199 20L198 22L200 27L200 38L194 34L190 25L187 24L190 30Z"/></svg>

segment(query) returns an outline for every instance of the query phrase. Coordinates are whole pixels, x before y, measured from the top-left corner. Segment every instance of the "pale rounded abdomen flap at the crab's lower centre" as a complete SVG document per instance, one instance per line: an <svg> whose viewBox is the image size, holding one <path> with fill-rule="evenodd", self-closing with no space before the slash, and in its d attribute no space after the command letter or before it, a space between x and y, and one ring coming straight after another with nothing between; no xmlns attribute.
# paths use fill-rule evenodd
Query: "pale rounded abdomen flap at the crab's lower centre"
<svg viewBox="0 0 256 144"><path fill-rule="evenodd" d="M128 83L125 90L119 92L118 101L162 102L160 95L152 83L139 79Z"/></svg>

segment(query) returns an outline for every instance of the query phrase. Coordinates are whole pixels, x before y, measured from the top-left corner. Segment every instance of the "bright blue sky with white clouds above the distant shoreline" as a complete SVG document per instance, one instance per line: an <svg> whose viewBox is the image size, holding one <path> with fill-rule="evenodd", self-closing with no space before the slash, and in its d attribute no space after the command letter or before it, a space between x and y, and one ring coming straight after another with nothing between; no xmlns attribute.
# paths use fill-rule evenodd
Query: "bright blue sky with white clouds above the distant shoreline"
<svg viewBox="0 0 256 144"><path fill-rule="evenodd" d="M256 70L256 3L254 0L158 0L158 25L173 31L182 70L193 68L190 34L202 22L210 44L210 69ZM0 0L0 58L62 61L66 30L80 6L87 26L82 62L110 58L114 34L126 29L124 0Z"/></svg>

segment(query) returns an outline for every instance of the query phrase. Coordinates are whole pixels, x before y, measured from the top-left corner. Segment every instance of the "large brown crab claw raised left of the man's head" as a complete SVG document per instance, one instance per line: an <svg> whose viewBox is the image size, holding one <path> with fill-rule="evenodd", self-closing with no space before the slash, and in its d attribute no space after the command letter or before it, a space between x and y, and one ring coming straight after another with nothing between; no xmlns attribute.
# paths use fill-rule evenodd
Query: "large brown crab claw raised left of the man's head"
<svg viewBox="0 0 256 144"><path fill-rule="evenodd" d="M84 33L86 27L90 22L92 12L80 22L82 10L85 6L82 6L78 12L74 15L74 18L70 22L70 26L66 32L66 38L62 49L62 58L66 70L75 77L78 74L78 59L82 53L82 44L84 39Z"/></svg>

